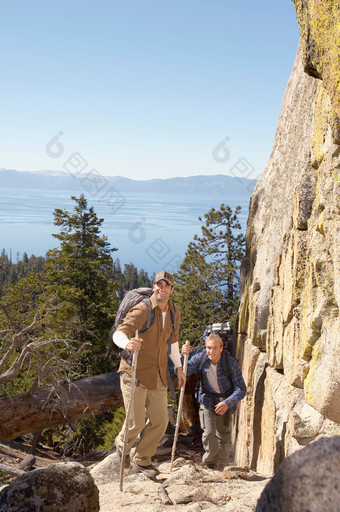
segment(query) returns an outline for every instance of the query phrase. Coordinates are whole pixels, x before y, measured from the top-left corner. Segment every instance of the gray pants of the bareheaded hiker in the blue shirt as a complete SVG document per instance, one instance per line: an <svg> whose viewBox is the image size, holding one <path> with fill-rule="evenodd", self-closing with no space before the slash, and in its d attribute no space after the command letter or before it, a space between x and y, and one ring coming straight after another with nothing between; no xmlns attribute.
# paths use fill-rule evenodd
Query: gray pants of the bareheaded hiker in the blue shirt
<svg viewBox="0 0 340 512"><path fill-rule="evenodd" d="M229 411L223 415L200 405L199 417L203 430L204 464L228 464L230 445Z"/></svg>

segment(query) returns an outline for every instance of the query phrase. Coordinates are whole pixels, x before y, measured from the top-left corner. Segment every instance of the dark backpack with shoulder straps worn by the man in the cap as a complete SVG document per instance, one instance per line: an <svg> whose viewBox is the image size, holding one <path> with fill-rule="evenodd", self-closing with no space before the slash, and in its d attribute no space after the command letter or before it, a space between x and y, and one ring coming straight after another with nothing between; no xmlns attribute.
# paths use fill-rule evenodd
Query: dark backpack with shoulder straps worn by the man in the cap
<svg viewBox="0 0 340 512"><path fill-rule="evenodd" d="M113 324L113 326L110 330L110 333L109 333L108 355L110 355L112 353L117 354L120 357L122 357L123 359L125 359L125 361L129 365L131 365L131 363L132 363L131 352L129 350L122 349L122 348L118 347L115 344L115 342L113 341L113 335L116 332L117 327L123 322L128 311L130 311L130 309L132 309L134 306L136 306L140 302L144 302L147 305L148 318L139 332L142 333L142 332L146 331L147 329L149 329L149 327L151 326L151 324L155 318L155 312L151 307L151 300L150 300L150 297L152 294L153 294L152 288L135 288L133 290L126 292L126 294L123 297L123 300L119 304L119 308L118 308L117 314L116 314L115 323ZM174 307L172 310L170 310L170 314L171 314L173 331L168 339L168 344L169 344L168 352L170 352L171 339L172 339L173 333L176 329L176 312L175 312Z"/></svg>

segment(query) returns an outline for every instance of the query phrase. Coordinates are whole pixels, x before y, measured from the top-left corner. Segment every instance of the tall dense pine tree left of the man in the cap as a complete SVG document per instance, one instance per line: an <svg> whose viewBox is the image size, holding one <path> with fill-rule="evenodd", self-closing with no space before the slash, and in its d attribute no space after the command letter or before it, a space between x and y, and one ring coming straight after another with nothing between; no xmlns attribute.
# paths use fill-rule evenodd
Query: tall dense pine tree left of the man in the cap
<svg viewBox="0 0 340 512"><path fill-rule="evenodd" d="M106 371L107 335L117 309L114 265L107 237L101 235L103 219L81 194L72 196L74 212L55 209L54 234L60 247L46 254L46 280L50 292L57 292L61 307L60 319L73 318L79 341L90 341L91 349L83 356L83 374Z"/></svg>

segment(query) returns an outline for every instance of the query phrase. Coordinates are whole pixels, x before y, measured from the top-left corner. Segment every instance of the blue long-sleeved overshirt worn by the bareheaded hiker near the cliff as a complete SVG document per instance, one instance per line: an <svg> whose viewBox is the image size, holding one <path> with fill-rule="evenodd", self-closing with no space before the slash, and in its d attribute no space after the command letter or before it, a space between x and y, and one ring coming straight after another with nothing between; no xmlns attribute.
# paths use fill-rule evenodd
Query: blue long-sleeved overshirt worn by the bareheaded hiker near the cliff
<svg viewBox="0 0 340 512"><path fill-rule="evenodd" d="M201 361L203 351L205 352L205 347L189 354L187 375L192 375L193 373L198 372L200 373L198 401L207 409L214 411L216 403L220 400L216 397L216 394L210 394L214 393L214 391L209 386L207 371L212 363L207 356L203 356ZM228 405L230 412L234 412L237 402L244 398L247 388L238 362L229 353L227 353L227 356L230 368L230 377L228 378L227 376L225 352L222 352L222 357L217 363L217 381L221 395L224 393L228 394L228 392L231 393L230 396L224 398L224 402Z"/></svg>

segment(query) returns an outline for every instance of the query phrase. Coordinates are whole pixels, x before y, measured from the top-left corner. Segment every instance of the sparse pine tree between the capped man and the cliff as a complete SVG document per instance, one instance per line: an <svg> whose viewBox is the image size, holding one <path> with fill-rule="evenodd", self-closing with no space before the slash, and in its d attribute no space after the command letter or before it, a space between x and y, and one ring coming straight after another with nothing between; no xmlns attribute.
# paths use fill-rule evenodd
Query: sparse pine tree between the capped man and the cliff
<svg viewBox="0 0 340 512"><path fill-rule="evenodd" d="M190 242L176 274L174 299L181 310L181 337L200 342L204 327L233 321L239 305L239 267L245 237L238 215L222 204L204 215L202 236Z"/></svg>

